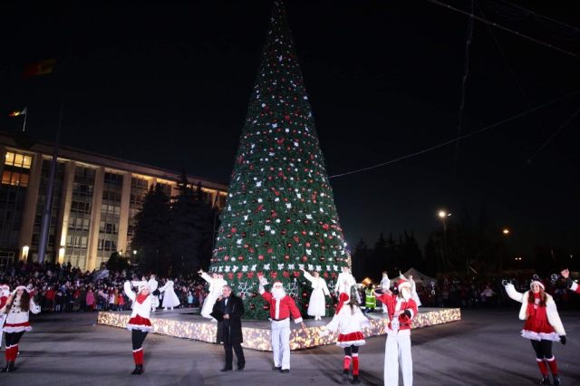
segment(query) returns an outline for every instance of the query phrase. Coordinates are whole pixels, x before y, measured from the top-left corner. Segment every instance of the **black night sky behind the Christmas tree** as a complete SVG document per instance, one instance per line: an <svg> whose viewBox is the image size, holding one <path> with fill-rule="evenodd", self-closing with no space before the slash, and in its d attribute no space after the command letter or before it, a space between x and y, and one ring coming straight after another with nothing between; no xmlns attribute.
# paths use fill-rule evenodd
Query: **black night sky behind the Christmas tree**
<svg viewBox="0 0 580 386"><path fill-rule="evenodd" d="M570 3L513 1L576 22ZM227 183L271 2L64 4L0 5L0 130L19 130L22 121L6 116L28 106L29 133L52 141L64 95L63 144ZM502 0L478 5L489 20L580 53L578 30ZM285 6L330 176L457 136L468 17L427 0ZM492 31L507 61L475 21L462 134L580 89L580 59ZM67 58L54 75L21 82L26 64L54 56ZM580 115L527 163L578 108L575 94L461 140L457 164L451 144L331 179L346 240L414 230L422 246L440 227L440 208L459 220L485 205L488 229L509 227L517 254L535 245L580 251Z"/></svg>

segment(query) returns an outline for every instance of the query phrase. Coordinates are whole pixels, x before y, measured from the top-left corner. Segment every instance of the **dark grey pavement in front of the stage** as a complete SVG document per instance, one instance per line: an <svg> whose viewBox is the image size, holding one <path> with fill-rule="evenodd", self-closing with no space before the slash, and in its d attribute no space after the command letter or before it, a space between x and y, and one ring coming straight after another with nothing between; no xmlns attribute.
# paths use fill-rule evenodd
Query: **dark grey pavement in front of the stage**
<svg viewBox="0 0 580 386"><path fill-rule="evenodd" d="M537 384L531 344L519 336L523 322L517 319L518 310L463 310L461 322L413 330L414 385ZM565 346L556 343L554 353L564 384L580 385L580 312L560 314L568 339ZM0 373L0 385L342 384L343 350L336 346L292 352L288 374L270 370L271 352L246 350L244 372L222 373L221 345L150 334L143 345L145 372L131 376L131 333L97 325L96 314L43 314L33 326L20 343L17 372ZM374 337L361 348L363 385L383 384L384 343L384 336ZM4 344L0 358L4 363Z"/></svg>

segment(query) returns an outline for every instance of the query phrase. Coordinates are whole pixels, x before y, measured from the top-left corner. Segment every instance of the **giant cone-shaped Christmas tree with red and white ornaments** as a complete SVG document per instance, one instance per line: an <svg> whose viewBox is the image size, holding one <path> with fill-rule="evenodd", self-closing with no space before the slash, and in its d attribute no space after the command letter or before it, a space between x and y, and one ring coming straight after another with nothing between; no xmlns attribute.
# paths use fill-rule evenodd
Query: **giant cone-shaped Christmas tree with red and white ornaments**
<svg viewBox="0 0 580 386"><path fill-rule="evenodd" d="M285 8L275 2L247 110L210 272L245 301L247 319L266 319L257 276L281 281L306 316L310 285L300 266L329 288L350 256L324 168ZM326 301L333 314L335 300Z"/></svg>

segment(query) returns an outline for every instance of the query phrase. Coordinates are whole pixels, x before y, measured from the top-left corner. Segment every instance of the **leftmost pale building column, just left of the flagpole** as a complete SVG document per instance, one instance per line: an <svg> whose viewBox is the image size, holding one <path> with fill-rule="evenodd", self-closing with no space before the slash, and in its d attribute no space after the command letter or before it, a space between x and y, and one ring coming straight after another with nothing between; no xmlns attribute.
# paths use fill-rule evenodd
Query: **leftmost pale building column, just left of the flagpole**
<svg viewBox="0 0 580 386"><path fill-rule="evenodd" d="M22 214L22 225L20 227L20 238L18 239L18 249L20 259L24 259L24 246L31 246L33 242L34 217L36 217L36 202L38 201L38 188L40 187L40 176L43 172L43 155L40 153L26 157L32 157L30 165L30 175L28 177L28 187L24 198L24 211ZM38 252L38 250L36 250ZM28 256L32 257L32 250L28 250Z"/></svg>

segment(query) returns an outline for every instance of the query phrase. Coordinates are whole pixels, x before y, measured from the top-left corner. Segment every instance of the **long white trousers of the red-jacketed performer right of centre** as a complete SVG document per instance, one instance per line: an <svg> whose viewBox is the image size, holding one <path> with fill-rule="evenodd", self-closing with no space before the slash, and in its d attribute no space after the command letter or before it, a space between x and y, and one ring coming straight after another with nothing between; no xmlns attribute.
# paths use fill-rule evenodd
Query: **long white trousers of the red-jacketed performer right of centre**
<svg viewBox="0 0 580 386"><path fill-rule="evenodd" d="M403 384L412 386L411 335L387 335L384 352L384 386L399 386L399 363Z"/></svg>

